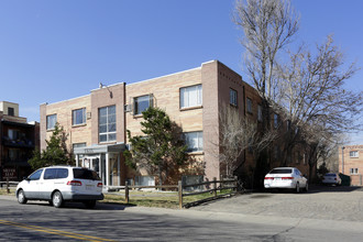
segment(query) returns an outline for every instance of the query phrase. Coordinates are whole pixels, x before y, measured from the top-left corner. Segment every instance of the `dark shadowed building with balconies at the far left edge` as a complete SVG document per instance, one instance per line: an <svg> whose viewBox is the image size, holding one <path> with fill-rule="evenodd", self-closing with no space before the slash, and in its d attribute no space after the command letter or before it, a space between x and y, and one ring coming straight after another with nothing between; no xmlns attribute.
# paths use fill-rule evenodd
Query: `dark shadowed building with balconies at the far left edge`
<svg viewBox="0 0 363 242"><path fill-rule="evenodd" d="M19 117L18 103L0 101L0 180L28 176L28 161L38 146L40 123Z"/></svg>

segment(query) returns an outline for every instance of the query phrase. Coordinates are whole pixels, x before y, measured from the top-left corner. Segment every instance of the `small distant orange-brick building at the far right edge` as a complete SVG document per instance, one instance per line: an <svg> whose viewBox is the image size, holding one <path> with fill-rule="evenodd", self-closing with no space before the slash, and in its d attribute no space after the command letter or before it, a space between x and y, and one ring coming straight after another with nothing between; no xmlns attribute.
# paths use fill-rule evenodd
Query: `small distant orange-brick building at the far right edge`
<svg viewBox="0 0 363 242"><path fill-rule="evenodd" d="M352 186L363 185L363 145L345 145L339 148L339 172L351 177Z"/></svg>

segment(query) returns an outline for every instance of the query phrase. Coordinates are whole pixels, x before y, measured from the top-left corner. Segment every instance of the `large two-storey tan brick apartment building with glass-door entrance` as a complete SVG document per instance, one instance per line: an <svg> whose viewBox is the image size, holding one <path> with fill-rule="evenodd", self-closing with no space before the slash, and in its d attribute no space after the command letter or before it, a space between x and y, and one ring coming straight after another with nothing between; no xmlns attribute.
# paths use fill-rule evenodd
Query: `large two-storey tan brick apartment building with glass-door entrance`
<svg viewBox="0 0 363 242"><path fill-rule="evenodd" d="M190 178L220 177L218 161L219 112L228 106L241 117L258 122L261 98L242 77L218 61L200 67L144 81L102 86L89 95L56 103L41 105L41 147L58 122L68 133L76 163L96 169L106 186L154 184L146 173L136 174L124 165L122 152L127 145L127 130L141 134L141 112L148 107L166 111L184 132L189 155L202 167L191 168ZM243 154L248 173L253 169L252 154ZM294 164L295 165L295 164ZM306 163L298 164L307 174ZM179 178L178 178L179 179Z"/></svg>

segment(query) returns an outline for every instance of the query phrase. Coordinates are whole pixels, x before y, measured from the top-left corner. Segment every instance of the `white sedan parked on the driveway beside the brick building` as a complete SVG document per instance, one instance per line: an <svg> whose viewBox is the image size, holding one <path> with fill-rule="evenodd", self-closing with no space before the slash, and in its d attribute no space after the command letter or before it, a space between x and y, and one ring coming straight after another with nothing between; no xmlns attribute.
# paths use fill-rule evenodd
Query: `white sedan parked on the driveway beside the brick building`
<svg viewBox="0 0 363 242"><path fill-rule="evenodd" d="M264 180L266 189L294 189L300 193L301 189L308 191L308 179L295 167L277 167L272 169Z"/></svg>

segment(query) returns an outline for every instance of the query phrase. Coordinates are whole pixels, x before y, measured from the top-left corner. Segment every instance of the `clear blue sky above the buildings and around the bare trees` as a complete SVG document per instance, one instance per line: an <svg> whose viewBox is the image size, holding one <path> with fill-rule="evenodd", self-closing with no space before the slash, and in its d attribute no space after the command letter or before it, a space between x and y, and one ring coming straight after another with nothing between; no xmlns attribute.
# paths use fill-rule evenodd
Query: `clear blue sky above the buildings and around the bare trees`
<svg viewBox="0 0 363 242"><path fill-rule="evenodd" d="M363 1L292 3L300 12L297 42L314 47L334 34L346 62L363 67ZM100 81L130 84L211 59L245 77L233 6L234 0L0 0L0 100L20 103L21 116L38 121L41 103L87 95ZM363 90L362 72L346 87Z"/></svg>

